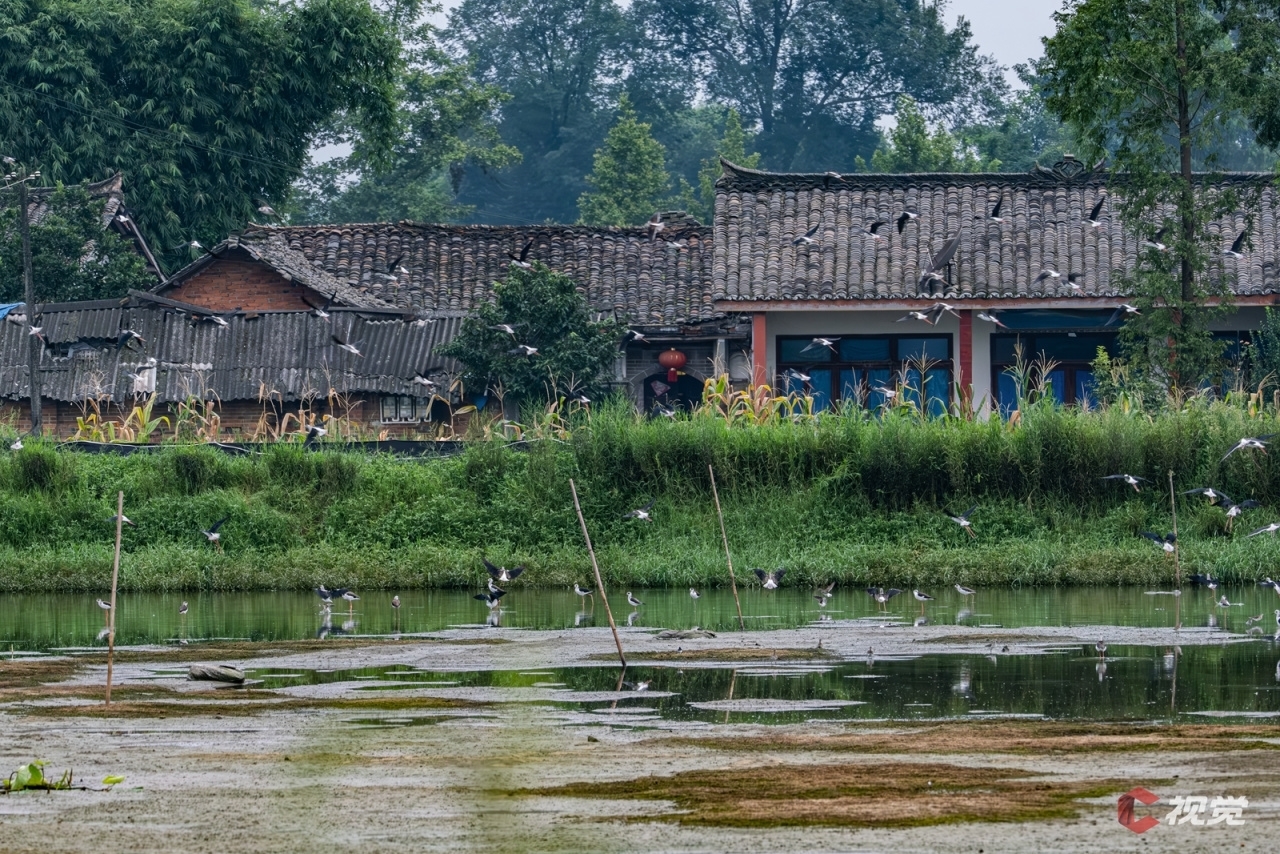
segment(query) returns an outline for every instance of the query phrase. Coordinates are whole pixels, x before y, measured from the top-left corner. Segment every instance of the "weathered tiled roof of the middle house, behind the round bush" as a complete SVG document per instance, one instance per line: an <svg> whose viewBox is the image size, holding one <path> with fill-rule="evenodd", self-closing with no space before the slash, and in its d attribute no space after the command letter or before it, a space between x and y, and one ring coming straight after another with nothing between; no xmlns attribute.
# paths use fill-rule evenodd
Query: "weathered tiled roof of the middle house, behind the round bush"
<svg viewBox="0 0 1280 854"><path fill-rule="evenodd" d="M471 311L511 269L508 252L576 279L591 307L640 326L678 326L723 316L712 301L710 229L680 215L662 238L644 228L579 225L255 225L243 243L284 241L312 265L387 302L425 311ZM678 239L677 239L678 238ZM392 268L408 275L390 280Z"/></svg>

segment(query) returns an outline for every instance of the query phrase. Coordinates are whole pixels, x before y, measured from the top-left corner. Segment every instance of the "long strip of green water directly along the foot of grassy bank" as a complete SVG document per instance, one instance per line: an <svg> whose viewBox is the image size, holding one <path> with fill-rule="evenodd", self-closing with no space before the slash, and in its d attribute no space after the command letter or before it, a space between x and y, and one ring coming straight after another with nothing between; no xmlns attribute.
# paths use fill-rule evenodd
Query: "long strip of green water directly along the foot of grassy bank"
<svg viewBox="0 0 1280 854"><path fill-rule="evenodd" d="M116 643L120 645L165 644L178 640L212 639L301 640L351 635L419 634L457 626L483 629L490 617L512 629L573 629L605 626L604 607L579 599L571 590L512 585L502 609L490 615L472 595L477 590L399 592L402 607L390 606L396 592L366 592L358 602L335 603L324 613L314 593L186 593L123 594L118 604ZM713 631L737 627L737 612L728 590L704 590L694 600L687 590L641 590L632 593L644 604L632 608L626 590L611 592L614 618L634 627ZM1271 588L1242 586L1208 590L1187 589L1181 597L1157 594L1140 588L991 589L961 597L954 589L932 590L937 600L925 603L923 618L932 624L966 626L1172 626L1213 627L1244 634L1245 621L1267 635L1276 630L1272 612L1280 597ZM1225 594L1240 604L1219 607ZM0 595L0 653L44 652L58 648L105 645L104 613L95 604L97 594ZM813 592L790 589L740 590L748 630L791 629L823 620L872 620L879 622L922 618L920 603L910 592L891 599L887 611L863 590L837 589L824 608ZM179 604L189 609L179 615Z"/></svg>

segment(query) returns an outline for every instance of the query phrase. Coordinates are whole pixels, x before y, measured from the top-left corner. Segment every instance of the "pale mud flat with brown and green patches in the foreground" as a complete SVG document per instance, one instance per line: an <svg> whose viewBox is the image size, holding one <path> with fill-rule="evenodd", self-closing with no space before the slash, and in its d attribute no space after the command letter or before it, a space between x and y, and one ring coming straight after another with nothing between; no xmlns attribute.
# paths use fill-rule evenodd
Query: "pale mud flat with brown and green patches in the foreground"
<svg viewBox="0 0 1280 854"><path fill-rule="evenodd" d="M744 688L800 685L800 675L859 662L868 649L890 662L992 656L1012 671L1028 657L1079 650L1102 638L1157 650L1245 641L1222 632L1117 627L832 624L698 640L625 631L632 658L626 681L653 677L648 691L622 685L607 654L608 631L595 629L192 644L123 650L110 711L101 705L97 653L3 661L0 763L41 758L58 771L74 768L88 784L109 773L127 780L113 791L0 796L0 827L6 850L93 854L317 845L1215 854L1270 848L1280 831L1280 718L831 720L822 716L845 707L787 699L786 691L765 699ZM1253 643L1275 657L1270 644ZM189 663L234 665L257 684L188 682ZM716 668L736 673L731 690L740 694L708 700L710 708L692 717L667 713L678 691L660 690L654 673ZM566 684L566 673L593 679ZM1091 680L1092 673L1091 663ZM870 667L864 675L879 673ZM1137 836L1116 822L1116 796L1137 785L1165 799L1247 796L1245 823L1161 825Z"/></svg>

